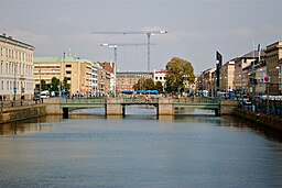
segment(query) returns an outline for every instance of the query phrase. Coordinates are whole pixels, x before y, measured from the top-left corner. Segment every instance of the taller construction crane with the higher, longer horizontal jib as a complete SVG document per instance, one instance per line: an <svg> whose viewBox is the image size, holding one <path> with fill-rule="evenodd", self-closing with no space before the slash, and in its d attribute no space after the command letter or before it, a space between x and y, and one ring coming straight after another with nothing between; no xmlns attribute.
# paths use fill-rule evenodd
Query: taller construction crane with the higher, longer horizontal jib
<svg viewBox="0 0 282 188"><path fill-rule="evenodd" d="M102 31L102 32L91 32L91 34L147 34L148 37L148 71L150 71L150 38L151 35L154 34L166 34L169 33L166 30L160 30L160 31Z"/></svg>

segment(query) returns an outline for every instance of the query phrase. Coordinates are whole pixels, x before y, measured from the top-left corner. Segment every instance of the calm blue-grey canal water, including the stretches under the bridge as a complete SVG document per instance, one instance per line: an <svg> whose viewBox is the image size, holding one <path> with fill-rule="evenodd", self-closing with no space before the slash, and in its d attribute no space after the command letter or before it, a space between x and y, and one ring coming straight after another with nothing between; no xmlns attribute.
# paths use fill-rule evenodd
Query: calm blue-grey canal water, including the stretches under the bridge
<svg viewBox="0 0 282 188"><path fill-rule="evenodd" d="M282 187L282 135L213 111L128 107L0 125L0 187Z"/></svg>

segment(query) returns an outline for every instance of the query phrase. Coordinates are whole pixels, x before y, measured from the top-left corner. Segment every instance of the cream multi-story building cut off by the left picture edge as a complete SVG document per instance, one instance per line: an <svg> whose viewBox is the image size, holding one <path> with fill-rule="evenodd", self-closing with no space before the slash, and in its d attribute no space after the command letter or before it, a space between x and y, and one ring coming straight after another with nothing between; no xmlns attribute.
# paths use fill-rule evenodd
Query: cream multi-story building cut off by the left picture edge
<svg viewBox="0 0 282 188"><path fill-rule="evenodd" d="M34 46L0 35L0 99L31 99Z"/></svg>

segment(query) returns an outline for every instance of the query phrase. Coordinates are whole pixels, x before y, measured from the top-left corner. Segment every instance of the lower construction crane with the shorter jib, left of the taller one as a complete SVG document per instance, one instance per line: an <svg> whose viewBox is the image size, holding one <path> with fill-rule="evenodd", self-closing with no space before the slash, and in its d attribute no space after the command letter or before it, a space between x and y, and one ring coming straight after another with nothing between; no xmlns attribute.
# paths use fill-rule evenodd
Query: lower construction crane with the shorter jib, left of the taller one
<svg viewBox="0 0 282 188"><path fill-rule="evenodd" d="M116 43L116 44L110 44L110 43L102 43L100 44L100 46L104 47L111 47L113 48L113 53L115 53L115 68L113 68L113 75L117 76L117 67L118 67L118 46L144 46L147 45L147 43ZM155 44L150 44L150 45L155 45ZM117 92L117 85L115 84L115 97Z"/></svg>

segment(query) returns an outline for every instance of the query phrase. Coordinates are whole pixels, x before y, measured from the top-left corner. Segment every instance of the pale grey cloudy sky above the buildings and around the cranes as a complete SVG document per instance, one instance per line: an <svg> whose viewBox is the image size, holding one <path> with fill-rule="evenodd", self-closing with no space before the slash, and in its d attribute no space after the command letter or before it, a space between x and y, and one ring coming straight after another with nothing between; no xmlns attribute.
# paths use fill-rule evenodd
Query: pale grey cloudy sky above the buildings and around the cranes
<svg viewBox="0 0 282 188"><path fill-rule="evenodd" d="M167 30L151 36L150 70L172 57L192 63L194 73L282 41L282 0L0 0L0 33L35 46L35 57L63 53L93 62L115 60L111 44L144 44L145 34L93 34ZM147 71L148 48L117 47L119 71Z"/></svg>

